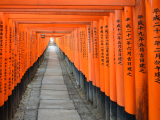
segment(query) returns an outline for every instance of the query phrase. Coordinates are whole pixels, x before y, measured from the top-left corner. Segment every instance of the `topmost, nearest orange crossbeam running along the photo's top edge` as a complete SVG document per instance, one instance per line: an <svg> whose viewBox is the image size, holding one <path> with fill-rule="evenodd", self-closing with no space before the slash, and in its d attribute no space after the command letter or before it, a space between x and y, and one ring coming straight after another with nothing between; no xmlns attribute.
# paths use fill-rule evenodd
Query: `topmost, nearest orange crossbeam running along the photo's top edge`
<svg viewBox="0 0 160 120"><path fill-rule="evenodd" d="M135 0L1 0L1 5L105 5L105 6L134 6Z"/></svg>

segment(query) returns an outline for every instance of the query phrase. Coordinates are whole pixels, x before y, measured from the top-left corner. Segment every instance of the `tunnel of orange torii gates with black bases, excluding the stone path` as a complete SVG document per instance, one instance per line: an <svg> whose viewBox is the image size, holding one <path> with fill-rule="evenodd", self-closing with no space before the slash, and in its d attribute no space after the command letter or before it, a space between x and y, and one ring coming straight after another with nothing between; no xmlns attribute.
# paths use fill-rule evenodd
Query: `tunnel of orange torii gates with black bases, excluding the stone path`
<svg viewBox="0 0 160 120"><path fill-rule="evenodd" d="M105 120L160 120L160 0L0 0L0 120L51 38Z"/></svg>

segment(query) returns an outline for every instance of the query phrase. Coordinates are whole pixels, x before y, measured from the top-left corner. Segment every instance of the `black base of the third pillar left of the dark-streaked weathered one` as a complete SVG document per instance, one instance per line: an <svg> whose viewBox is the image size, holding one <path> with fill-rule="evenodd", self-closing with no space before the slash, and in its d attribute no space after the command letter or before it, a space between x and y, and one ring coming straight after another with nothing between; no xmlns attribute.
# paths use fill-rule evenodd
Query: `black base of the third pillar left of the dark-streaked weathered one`
<svg viewBox="0 0 160 120"><path fill-rule="evenodd" d="M110 120L117 120L117 102L110 100Z"/></svg>

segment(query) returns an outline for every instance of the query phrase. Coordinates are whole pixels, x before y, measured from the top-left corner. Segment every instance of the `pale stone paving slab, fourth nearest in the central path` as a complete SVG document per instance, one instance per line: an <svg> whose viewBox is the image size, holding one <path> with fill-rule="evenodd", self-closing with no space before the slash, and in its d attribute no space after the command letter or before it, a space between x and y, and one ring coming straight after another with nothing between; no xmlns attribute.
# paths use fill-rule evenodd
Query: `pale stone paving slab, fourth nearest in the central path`
<svg viewBox="0 0 160 120"><path fill-rule="evenodd" d="M41 87L42 90L67 90L66 85L42 85Z"/></svg>

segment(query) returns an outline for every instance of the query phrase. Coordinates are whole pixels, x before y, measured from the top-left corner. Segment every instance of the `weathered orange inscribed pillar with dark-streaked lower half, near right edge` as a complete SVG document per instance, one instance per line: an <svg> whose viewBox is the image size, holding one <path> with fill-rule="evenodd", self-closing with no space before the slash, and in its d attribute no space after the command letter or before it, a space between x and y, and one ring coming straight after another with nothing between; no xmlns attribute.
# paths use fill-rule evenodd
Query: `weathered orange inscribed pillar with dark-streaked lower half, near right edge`
<svg viewBox="0 0 160 120"><path fill-rule="evenodd" d="M148 76L145 0L136 0L134 15L134 56L136 119L148 120Z"/></svg>

